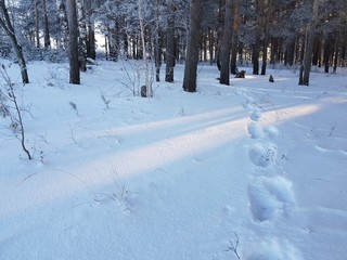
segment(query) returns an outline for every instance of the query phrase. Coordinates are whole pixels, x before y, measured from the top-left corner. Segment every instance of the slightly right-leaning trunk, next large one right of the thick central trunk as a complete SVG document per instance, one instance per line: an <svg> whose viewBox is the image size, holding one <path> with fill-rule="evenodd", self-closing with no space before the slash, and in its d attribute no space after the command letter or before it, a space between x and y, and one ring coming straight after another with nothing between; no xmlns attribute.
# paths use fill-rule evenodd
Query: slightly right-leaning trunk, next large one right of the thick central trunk
<svg viewBox="0 0 347 260"><path fill-rule="evenodd" d="M230 51L232 32L232 0L226 0L224 28L220 44L220 80L221 84L230 84Z"/></svg>

